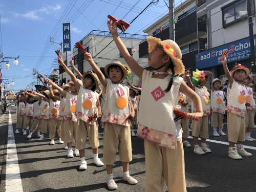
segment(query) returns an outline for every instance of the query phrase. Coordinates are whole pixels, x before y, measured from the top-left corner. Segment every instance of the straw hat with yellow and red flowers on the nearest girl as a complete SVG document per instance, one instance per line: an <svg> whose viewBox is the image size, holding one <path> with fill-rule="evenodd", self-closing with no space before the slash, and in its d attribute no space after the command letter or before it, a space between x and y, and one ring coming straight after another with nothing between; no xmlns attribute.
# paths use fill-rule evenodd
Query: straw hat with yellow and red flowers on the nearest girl
<svg viewBox="0 0 256 192"><path fill-rule="evenodd" d="M152 36L147 37L146 40L148 42L148 53L151 53L157 44L161 45L163 47L164 52L167 53L167 55L169 55L170 59L172 59L173 61L174 72L175 72L174 75L184 74L185 67L181 60L182 53L175 41L170 39L162 41L160 38L156 38ZM169 74L172 73L171 70L167 70L167 72Z"/></svg>

